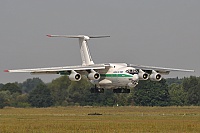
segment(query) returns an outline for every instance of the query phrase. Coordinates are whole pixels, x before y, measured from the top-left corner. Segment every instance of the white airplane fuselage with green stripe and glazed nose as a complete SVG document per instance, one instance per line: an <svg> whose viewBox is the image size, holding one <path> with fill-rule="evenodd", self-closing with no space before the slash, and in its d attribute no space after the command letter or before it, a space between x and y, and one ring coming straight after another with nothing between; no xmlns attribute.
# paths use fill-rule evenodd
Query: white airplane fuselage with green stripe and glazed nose
<svg viewBox="0 0 200 133"><path fill-rule="evenodd" d="M92 80L93 84L101 88L135 87L139 81L137 70L127 67L125 63L110 63L109 68L99 70L101 78L98 81ZM134 73L130 73L135 72Z"/></svg>

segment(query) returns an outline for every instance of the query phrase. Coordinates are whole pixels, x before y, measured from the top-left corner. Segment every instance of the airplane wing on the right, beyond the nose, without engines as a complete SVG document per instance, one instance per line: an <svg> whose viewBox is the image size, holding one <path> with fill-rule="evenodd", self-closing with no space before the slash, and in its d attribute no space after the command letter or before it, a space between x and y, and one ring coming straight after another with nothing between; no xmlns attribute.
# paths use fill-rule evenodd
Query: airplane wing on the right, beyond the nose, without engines
<svg viewBox="0 0 200 133"><path fill-rule="evenodd" d="M176 69L176 68L165 68L165 67L155 67L155 66L143 66L143 65L134 65L134 64L129 64L128 66L134 67L136 69L142 69L144 71L155 70L156 72L161 73L161 74L169 74L170 71L194 72L194 70L188 70L188 69Z"/></svg>

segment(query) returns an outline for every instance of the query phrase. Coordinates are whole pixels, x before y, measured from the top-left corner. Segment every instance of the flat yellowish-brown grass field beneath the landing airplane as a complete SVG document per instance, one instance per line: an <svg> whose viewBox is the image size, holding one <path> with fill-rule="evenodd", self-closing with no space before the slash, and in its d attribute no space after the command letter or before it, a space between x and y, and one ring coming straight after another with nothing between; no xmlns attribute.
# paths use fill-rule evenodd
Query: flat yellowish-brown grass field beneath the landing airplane
<svg viewBox="0 0 200 133"><path fill-rule="evenodd" d="M88 114L102 115L88 115ZM0 109L0 133L200 133L200 107Z"/></svg>

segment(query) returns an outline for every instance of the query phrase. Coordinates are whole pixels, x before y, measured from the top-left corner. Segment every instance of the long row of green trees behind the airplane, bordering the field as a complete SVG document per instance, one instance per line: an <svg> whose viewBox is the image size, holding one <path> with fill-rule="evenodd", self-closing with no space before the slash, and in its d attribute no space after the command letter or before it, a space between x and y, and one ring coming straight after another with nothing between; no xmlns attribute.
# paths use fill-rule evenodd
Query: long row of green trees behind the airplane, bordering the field
<svg viewBox="0 0 200 133"><path fill-rule="evenodd" d="M23 83L0 84L0 108L50 106L199 106L200 77L139 81L129 94L91 93L93 85L86 78L72 82L61 76L50 83L39 78Z"/></svg>

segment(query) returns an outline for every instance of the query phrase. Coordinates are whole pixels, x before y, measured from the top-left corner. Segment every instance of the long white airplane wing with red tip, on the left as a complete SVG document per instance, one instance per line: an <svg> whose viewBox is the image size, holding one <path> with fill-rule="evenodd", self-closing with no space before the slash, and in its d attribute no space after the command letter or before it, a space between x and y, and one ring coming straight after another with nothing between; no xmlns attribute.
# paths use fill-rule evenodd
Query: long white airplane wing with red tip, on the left
<svg viewBox="0 0 200 133"><path fill-rule="evenodd" d="M31 74L64 74L69 71L87 71L105 69L104 64L94 64L88 66L64 66L64 67L48 67L48 68L34 68L34 69L16 69L4 70L4 72L28 72Z"/></svg>

